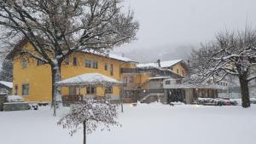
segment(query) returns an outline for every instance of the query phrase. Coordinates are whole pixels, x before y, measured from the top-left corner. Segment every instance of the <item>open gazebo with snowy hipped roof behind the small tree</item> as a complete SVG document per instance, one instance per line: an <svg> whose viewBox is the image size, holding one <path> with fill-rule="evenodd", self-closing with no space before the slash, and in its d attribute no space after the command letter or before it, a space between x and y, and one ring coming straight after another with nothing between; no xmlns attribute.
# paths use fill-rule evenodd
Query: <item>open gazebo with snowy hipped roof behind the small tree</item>
<svg viewBox="0 0 256 144"><path fill-rule="evenodd" d="M122 83L100 73L85 73L57 83L61 87L63 105L68 106L82 97L119 102Z"/></svg>

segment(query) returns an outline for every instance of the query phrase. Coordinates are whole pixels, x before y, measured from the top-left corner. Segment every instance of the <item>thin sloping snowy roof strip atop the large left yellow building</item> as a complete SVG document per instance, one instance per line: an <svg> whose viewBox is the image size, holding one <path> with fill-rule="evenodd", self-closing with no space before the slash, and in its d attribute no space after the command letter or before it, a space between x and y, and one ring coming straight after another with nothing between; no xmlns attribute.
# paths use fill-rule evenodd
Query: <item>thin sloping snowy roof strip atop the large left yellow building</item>
<svg viewBox="0 0 256 144"><path fill-rule="evenodd" d="M104 57L109 57L114 60L121 60L121 61L125 61L125 62L136 62L135 60L131 60L125 56L109 54L108 52L97 51L94 49L84 49L83 52L93 54L93 55L101 55Z"/></svg>

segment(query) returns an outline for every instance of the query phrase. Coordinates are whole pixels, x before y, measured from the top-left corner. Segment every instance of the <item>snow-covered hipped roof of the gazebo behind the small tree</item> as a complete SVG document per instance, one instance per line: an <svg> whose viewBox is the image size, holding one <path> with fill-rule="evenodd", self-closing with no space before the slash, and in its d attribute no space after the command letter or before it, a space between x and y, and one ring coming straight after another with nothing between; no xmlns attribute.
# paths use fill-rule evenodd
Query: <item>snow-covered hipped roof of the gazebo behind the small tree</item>
<svg viewBox="0 0 256 144"><path fill-rule="evenodd" d="M62 80L61 82L57 82L57 84L65 86L65 85L90 85L90 84L121 84L118 80L114 78L109 78L100 73L85 73L73 78L67 78Z"/></svg>

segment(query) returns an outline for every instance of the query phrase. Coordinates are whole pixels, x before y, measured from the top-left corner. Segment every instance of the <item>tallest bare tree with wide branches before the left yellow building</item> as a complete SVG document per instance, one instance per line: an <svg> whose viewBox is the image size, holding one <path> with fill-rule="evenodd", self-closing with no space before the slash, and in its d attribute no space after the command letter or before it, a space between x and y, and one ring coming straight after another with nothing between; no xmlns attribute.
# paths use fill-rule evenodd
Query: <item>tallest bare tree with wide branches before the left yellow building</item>
<svg viewBox="0 0 256 144"><path fill-rule="evenodd" d="M55 82L61 80L61 62L68 55L129 43L138 30L122 0L3 0L0 26L5 28L2 39L21 36L32 44L34 49L21 50L21 55L51 66L53 103L61 101Z"/></svg>

